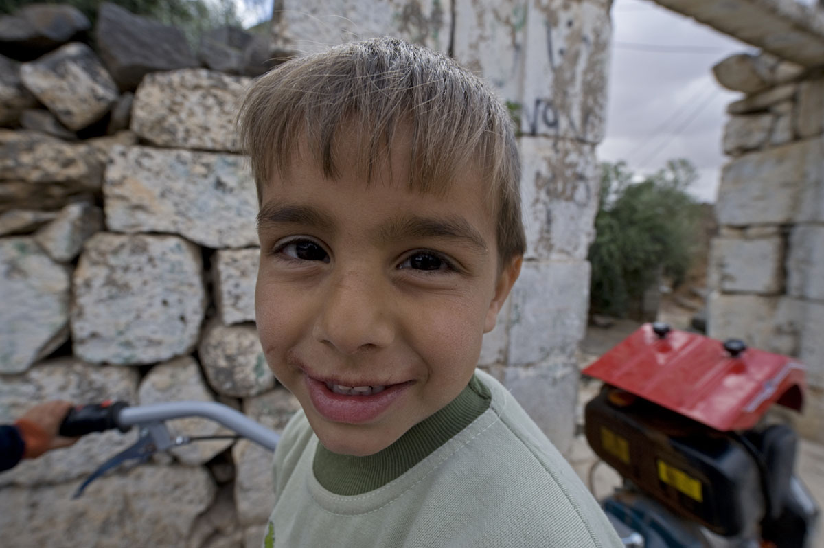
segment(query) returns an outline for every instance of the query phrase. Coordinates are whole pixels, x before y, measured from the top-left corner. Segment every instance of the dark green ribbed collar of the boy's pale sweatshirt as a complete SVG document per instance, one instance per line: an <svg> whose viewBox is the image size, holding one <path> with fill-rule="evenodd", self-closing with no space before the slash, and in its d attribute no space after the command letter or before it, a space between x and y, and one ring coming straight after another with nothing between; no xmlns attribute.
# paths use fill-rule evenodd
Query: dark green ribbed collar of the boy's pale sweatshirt
<svg viewBox="0 0 824 548"><path fill-rule="evenodd" d="M415 424L386 449L353 457L317 444L313 469L318 482L335 494L363 494L395 480L477 419L492 400L475 375L458 396L434 415Z"/></svg>

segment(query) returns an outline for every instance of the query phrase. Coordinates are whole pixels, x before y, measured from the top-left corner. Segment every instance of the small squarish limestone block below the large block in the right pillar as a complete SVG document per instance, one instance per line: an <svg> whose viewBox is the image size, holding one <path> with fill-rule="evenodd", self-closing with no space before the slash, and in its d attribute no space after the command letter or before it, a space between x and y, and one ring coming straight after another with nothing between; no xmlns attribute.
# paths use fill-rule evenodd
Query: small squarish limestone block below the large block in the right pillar
<svg viewBox="0 0 824 548"><path fill-rule="evenodd" d="M714 238L709 253L709 287L725 293L783 293L784 240Z"/></svg>

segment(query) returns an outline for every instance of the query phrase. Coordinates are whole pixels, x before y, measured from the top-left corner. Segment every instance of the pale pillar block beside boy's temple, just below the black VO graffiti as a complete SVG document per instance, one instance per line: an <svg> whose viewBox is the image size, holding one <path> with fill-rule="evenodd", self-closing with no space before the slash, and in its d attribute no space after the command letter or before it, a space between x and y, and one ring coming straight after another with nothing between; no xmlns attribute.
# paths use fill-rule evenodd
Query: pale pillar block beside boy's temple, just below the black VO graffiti
<svg viewBox="0 0 824 548"><path fill-rule="evenodd" d="M601 185L595 148L522 138L521 202L527 259L586 259Z"/></svg>

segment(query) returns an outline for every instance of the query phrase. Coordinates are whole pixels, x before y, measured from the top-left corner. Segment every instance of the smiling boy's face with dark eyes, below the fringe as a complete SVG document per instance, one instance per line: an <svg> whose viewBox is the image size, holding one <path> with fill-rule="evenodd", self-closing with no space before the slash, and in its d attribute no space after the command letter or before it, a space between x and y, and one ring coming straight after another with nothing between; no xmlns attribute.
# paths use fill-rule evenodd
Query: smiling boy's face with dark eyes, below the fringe
<svg viewBox="0 0 824 548"><path fill-rule="evenodd" d="M499 274L474 172L441 195L410 190L402 135L367 185L355 147L339 180L293 162L261 190L255 307L269 367L321 443L363 456L463 390L521 260Z"/></svg>

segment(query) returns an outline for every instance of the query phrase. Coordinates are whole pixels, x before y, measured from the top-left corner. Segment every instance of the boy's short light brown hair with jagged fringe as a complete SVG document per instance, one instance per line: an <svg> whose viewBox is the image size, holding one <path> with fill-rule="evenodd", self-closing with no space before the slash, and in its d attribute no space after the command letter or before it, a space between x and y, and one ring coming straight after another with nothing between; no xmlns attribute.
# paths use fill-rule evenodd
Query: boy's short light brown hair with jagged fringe
<svg viewBox="0 0 824 548"><path fill-rule="evenodd" d="M369 181L408 128L410 187L437 193L458 170L478 168L498 218L499 266L525 251L512 119L480 78L442 54L377 38L292 59L250 87L238 121L259 199L275 170L288 176L298 143L335 179L335 143L354 128L362 146L353 160Z"/></svg>

